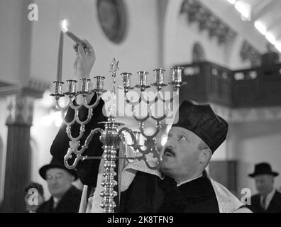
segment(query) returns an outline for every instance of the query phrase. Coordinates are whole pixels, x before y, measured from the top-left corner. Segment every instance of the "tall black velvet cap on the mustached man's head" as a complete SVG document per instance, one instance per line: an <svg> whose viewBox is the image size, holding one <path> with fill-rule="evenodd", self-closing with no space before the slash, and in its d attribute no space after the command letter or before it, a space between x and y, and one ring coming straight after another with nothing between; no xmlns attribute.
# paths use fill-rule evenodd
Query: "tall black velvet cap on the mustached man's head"
<svg viewBox="0 0 281 227"><path fill-rule="evenodd" d="M226 140L228 123L214 114L210 105L194 104L185 100L180 104L172 127L182 127L202 138L211 152Z"/></svg>

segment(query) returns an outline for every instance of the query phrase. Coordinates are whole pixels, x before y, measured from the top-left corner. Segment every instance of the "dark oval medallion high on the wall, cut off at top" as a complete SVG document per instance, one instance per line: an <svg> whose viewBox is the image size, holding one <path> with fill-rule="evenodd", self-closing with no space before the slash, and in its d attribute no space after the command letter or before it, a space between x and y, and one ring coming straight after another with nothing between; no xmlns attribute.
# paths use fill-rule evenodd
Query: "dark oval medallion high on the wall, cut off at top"
<svg viewBox="0 0 281 227"><path fill-rule="evenodd" d="M99 23L104 34L114 43L121 43L126 33L126 8L123 0L97 0Z"/></svg>

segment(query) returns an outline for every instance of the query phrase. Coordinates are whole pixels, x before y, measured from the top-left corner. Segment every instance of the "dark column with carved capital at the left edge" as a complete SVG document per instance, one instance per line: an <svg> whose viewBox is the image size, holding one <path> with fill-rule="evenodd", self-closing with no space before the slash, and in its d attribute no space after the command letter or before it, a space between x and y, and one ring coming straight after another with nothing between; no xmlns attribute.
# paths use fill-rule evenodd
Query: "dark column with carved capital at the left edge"
<svg viewBox="0 0 281 227"><path fill-rule="evenodd" d="M31 125L34 97L19 93L6 96L8 126L4 201L2 212L25 211L24 187L31 179Z"/></svg>

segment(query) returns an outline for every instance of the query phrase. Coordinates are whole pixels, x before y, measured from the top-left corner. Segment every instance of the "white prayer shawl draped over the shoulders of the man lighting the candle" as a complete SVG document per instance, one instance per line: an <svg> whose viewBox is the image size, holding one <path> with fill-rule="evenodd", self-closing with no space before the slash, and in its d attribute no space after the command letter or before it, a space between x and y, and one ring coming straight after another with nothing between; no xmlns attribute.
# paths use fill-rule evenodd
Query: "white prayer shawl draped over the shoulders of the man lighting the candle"
<svg viewBox="0 0 281 227"><path fill-rule="evenodd" d="M100 166L99 170L102 172L102 167ZM150 170L146 165L145 162L142 161L134 161L132 163L128 163L126 167L123 169L122 172L122 187L121 187L121 192L126 191L128 187L130 186L131 182L133 182L133 178L136 176L136 172L141 171L141 172L146 172L152 175L156 175L160 178L162 178L160 172L158 170ZM213 179L209 177L207 174L207 177L210 179L211 184L214 188L214 192L216 194L216 199L219 204L219 212L220 213L251 213L249 209L242 208L240 209L243 204L241 201L236 198L231 192L226 189L223 185L219 184L218 182L215 182ZM94 193L94 196L90 197L88 199L88 203L86 202L86 196L83 194L87 193L87 190L83 190L82 194L82 201L80 203L80 209L79 211L86 211L89 213L102 213L103 209L99 206L101 204L101 201L103 201L103 198L99 196L102 187L100 185L101 183L101 172L99 172L99 177L97 180L97 189L96 192ZM94 203L92 200L94 199ZM94 206L92 206L94 204ZM86 208L87 206L87 208Z"/></svg>

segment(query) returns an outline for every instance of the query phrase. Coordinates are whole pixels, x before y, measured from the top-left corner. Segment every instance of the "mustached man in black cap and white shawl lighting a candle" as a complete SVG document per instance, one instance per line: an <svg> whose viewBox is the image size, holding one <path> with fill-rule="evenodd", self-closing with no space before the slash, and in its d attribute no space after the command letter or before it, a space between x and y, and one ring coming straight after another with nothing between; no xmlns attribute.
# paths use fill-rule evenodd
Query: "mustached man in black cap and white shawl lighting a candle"
<svg viewBox="0 0 281 227"><path fill-rule="evenodd" d="M93 49L90 50L94 52ZM84 74L84 71L89 73L94 64L95 55L87 56L82 45L79 45L77 58L79 64L83 66L80 73ZM75 67L77 67L76 64ZM89 135L89 131L100 128L97 123L101 121L101 118L106 120L102 114L103 104L104 101L101 101L94 109L94 115L85 127L82 144ZM73 115L70 111L67 114ZM50 150L51 154L61 162L70 142L65 128L65 126L60 128ZM79 130L78 127L77 130ZM162 150L160 170L150 170L145 162L135 160L127 163L123 171L119 172L119 175L122 175L122 184L121 196L115 198L120 199L116 211L126 213L250 212L228 189L211 179L205 170L213 153L226 140L227 131L228 123L217 116L211 106L183 101L178 111L178 121L173 123L167 143ZM99 136L96 136L92 138L83 155L101 156L101 146ZM104 163L100 160L91 161L95 163L85 161L77 165L77 173L82 183L89 186L88 190L84 190L80 211L102 212L103 209L99 204L103 198L99 196L99 192L102 190ZM91 188L93 190L90 190ZM90 199L92 204L89 202L86 209L87 199L92 192L94 192Z"/></svg>

